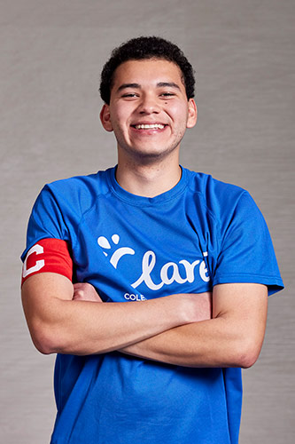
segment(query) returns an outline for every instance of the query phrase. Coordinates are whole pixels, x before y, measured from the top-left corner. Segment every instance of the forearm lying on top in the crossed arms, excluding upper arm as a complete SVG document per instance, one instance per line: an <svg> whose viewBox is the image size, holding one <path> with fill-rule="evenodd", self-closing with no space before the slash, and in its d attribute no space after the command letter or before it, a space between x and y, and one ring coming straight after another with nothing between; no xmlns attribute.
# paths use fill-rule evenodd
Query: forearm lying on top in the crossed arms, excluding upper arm
<svg viewBox="0 0 295 444"><path fill-rule="evenodd" d="M154 299L143 304L97 304L58 300L47 323L49 353L106 353L158 335L184 322L166 310L166 302Z"/></svg>

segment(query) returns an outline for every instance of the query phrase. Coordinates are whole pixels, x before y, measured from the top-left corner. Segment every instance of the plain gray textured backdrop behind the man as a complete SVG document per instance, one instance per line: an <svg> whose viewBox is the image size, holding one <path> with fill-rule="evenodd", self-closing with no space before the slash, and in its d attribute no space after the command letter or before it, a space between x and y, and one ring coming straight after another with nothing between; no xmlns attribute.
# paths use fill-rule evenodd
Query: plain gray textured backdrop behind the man
<svg viewBox="0 0 295 444"><path fill-rule="evenodd" d="M47 443L55 416L54 357L35 351L19 298L29 212L44 183L116 162L99 73L140 35L175 41L196 68L182 164L244 186L268 221L287 289L244 371L240 443L294 442L294 22L293 0L1 0L2 442Z"/></svg>

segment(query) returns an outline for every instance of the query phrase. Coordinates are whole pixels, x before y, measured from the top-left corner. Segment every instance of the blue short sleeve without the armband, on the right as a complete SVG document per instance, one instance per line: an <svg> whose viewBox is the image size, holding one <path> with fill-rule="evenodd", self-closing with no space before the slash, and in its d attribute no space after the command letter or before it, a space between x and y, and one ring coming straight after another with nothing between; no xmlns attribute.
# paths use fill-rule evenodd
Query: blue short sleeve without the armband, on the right
<svg viewBox="0 0 295 444"><path fill-rule="evenodd" d="M268 295L283 289L268 226L247 192L221 220L213 285L229 282L261 283L268 286Z"/></svg>

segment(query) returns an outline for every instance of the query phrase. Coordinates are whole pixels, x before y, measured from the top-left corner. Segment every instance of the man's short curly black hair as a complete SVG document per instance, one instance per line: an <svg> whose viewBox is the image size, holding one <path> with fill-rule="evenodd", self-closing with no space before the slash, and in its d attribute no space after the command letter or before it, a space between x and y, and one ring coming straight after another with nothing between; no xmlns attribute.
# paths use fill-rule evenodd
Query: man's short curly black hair
<svg viewBox="0 0 295 444"><path fill-rule="evenodd" d="M194 97L195 77L189 60L175 44L161 37L136 37L113 50L101 73L100 96L110 103L113 75L117 67L128 60L166 59L180 67L187 98Z"/></svg>

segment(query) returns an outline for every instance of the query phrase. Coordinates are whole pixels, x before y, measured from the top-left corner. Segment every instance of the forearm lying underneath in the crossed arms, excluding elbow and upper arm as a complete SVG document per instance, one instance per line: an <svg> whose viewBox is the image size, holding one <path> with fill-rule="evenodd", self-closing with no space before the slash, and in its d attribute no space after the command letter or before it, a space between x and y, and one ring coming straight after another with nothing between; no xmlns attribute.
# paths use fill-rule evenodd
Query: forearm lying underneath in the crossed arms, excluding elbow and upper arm
<svg viewBox="0 0 295 444"><path fill-rule="evenodd" d="M169 329L120 350L152 361L183 367L245 367L243 338L221 318Z"/></svg>

